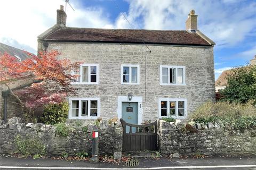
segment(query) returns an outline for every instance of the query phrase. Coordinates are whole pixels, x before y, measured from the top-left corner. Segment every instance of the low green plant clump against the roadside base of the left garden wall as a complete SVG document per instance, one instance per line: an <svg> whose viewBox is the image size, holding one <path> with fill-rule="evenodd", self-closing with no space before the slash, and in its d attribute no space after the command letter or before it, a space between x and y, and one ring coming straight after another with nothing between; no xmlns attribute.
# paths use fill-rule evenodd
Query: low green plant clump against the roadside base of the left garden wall
<svg viewBox="0 0 256 170"><path fill-rule="evenodd" d="M22 139L18 134L14 139L17 146L17 152L26 156L34 155L35 157L41 157L46 155L45 146L38 139L25 138Z"/></svg>

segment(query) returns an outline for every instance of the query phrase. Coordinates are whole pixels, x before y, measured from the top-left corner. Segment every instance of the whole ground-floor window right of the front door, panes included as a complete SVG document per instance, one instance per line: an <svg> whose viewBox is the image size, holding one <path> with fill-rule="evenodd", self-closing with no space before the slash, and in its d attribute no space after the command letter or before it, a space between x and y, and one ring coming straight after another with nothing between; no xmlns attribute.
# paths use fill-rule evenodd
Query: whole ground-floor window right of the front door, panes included
<svg viewBox="0 0 256 170"><path fill-rule="evenodd" d="M187 99L184 98L161 98L158 107L159 118L185 118L187 116Z"/></svg>

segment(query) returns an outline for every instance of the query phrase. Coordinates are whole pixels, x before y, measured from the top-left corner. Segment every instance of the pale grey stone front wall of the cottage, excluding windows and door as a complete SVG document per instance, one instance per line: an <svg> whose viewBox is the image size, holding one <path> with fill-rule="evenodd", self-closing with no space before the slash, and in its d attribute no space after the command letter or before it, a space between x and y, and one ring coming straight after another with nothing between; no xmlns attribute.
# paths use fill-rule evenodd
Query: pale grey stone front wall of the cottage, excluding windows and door
<svg viewBox="0 0 256 170"><path fill-rule="evenodd" d="M142 97L142 121L158 118L159 98L186 98L188 114L207 100L214 100L213 47L54 43L49 41L47 50L58 50L60 58L71 62L99 64L99 84L74 85L78 97L100 98L100 117L117 117L117 97ZM38 40L38 51L44 50ZM140 84L121 84L121 64L140 65ZM186 86L160 86L160 65L186 67Z"/></svg>

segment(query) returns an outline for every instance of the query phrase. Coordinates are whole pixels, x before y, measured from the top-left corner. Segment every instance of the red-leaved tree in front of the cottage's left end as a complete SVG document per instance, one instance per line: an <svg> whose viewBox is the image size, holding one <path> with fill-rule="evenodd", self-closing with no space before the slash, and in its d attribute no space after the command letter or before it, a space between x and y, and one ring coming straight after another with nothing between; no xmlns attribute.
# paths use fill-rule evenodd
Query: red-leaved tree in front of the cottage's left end
<svg viewBox="0 0 256 170"><path fill-rule="evenodd" d="M38 56L29 54L31 57L21 62L7 53L0 56L0 84L5 84L17 99L14 103L22 106L27 114L33 114L45 104L60 103L70 94L76 94L70 82L77 75L70 73L77 70L79 63L58 60L59 54L55 50L39 52ZM13 81L28 77L36 82L19 90L11 89Z"/></svg>

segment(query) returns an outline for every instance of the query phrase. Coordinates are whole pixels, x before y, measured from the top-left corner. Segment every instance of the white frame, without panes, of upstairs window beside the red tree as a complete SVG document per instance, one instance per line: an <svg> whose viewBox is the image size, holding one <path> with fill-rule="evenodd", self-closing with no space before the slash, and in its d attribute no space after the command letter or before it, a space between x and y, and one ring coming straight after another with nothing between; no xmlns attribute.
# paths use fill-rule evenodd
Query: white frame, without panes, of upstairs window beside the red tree
<svg viewBox="0 0 256 170"><path fill-rule="evenodd" d="M88 82L83 82L83 67L88 67ZM91 81L91 66L96 66L96 82ZM72 74L74 75L75 72L73 71ZM79 81L78 82L71 82L71 84L99 84L99 64L80 64L79 67Z"/></svg>

